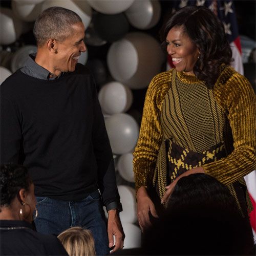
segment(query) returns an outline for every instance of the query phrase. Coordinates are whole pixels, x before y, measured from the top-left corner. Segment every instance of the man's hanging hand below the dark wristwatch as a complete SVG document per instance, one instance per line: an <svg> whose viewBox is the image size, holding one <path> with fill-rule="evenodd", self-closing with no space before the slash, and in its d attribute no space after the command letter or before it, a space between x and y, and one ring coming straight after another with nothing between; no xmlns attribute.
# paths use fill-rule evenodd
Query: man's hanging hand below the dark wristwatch
<svg viewBox="0 0 256 256"><path fill-rule="evenodd" d="M112 252L123 248L124 232L122 224L119 218L118 211L116 209L108 211L108 237L109 237L109 247L114 246L115 236L115 247Z"/></svg>

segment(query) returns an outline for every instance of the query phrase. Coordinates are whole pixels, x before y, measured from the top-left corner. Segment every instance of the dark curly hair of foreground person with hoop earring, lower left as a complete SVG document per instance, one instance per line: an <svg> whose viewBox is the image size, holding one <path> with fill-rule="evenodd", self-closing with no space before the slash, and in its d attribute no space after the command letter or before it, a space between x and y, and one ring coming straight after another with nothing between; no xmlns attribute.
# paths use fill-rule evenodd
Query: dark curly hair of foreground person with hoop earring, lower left
<svg viewBox="0 0 256 256"><path fill-rule="evenodd" d="M1 165L1 207L8 206L22 188L29 190L32 183L28 169L13 163Z"/></svg>

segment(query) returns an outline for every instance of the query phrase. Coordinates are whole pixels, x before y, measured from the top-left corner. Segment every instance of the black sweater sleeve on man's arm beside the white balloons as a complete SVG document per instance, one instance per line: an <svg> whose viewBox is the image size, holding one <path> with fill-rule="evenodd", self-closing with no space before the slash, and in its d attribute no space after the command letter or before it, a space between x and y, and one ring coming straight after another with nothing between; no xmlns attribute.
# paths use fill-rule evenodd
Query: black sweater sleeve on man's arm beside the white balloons
<svg viewBox="0 0 256 256"><path fill-rule="evenodd" d="M92 80L93 94L93 148L98 167L98 186L103 204L108 206L112 202L120 203L116 184L116 173L113 154L110 146L104 117L98 100L95 84Z"/></svg>

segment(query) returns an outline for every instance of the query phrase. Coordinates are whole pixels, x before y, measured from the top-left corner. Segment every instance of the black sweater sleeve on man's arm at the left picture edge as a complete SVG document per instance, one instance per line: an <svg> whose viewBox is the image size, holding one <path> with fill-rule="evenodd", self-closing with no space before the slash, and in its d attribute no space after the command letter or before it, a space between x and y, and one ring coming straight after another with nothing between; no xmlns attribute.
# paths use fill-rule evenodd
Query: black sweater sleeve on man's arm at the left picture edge
<svg viewBox="0 0 256 256"><path fill-rule="evenodd" d="M17 107L14 102L5 98L4 90L1 90L1 164L21 163L21 141L22 132Z"/></svg>

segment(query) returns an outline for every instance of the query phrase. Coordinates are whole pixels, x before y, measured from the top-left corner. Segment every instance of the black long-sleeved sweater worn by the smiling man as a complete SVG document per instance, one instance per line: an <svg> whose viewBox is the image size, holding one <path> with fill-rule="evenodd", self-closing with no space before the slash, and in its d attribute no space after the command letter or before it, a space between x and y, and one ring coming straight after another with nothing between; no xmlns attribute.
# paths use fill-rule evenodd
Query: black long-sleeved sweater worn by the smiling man
<svg viewBox="0 0 256 256"><path fill-rule="evenodd" d="M35 195L76 201L100 188L119 201L95 84L80 64L55 80L16 71L1 85L1 163L24 164Z"/></svg>

